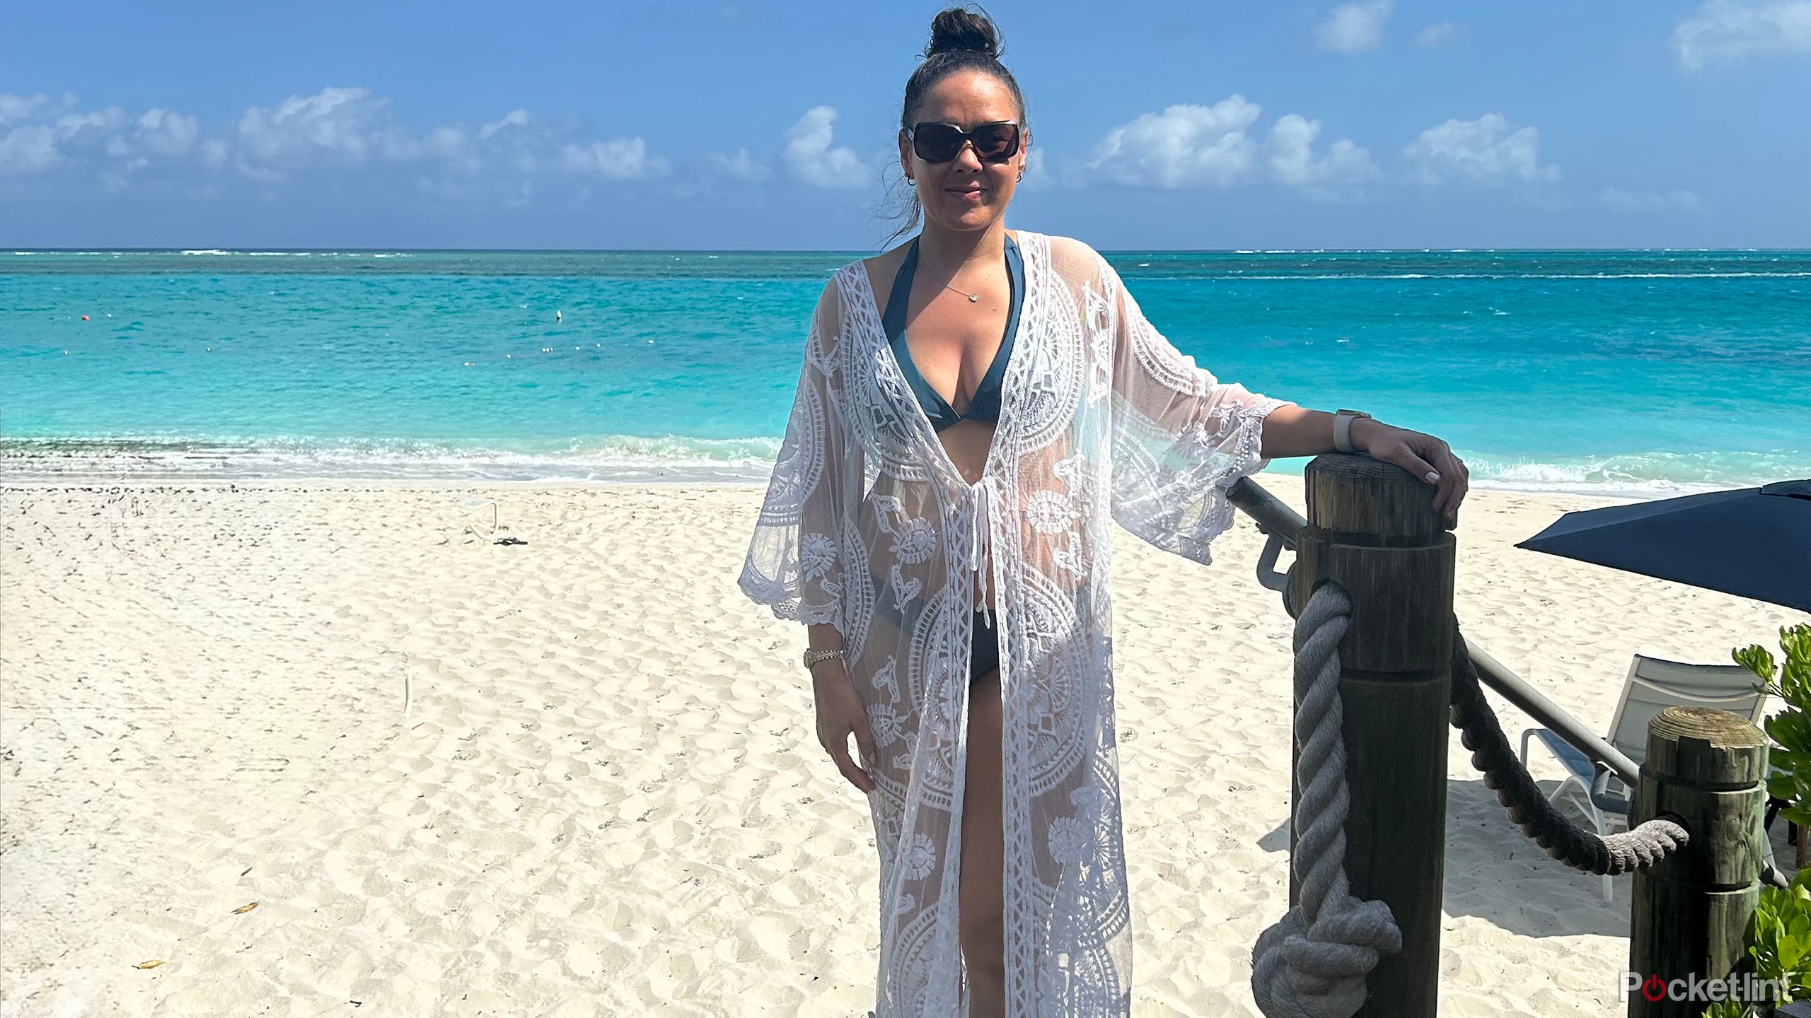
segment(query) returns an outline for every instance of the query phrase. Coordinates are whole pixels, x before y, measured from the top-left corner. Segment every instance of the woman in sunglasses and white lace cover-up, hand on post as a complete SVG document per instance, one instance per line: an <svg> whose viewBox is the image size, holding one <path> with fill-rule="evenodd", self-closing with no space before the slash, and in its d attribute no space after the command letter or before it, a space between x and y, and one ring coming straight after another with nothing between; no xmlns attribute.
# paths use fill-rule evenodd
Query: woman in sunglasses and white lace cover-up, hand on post
<svg viewBox="0 0 1811 1018"><path fill-rule="evenodd" d="M1030 129L996 54L936 14L898 134L924 228L824 286L741 576L810 625L867 793L878 1018L1130 1011L1108 520L1206 563L1233 482L1337 444L1465 495L1445 442L1219 382L1092 248L1007 230Z"/></svg>

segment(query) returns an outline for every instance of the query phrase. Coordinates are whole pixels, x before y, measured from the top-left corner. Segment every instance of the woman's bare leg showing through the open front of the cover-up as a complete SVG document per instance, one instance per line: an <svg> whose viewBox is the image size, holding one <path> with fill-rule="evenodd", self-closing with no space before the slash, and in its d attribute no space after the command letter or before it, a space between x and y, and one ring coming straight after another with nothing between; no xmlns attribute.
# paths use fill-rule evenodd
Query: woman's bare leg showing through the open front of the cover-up
<svg viewBox="0 0 1811 1018"><path fill-rule="evenodd" d="M1005 839L1000 833L1000 672L969 688L969 768L962 793L962 960L969 969L969 1016L1003 1018Z"/></svg>

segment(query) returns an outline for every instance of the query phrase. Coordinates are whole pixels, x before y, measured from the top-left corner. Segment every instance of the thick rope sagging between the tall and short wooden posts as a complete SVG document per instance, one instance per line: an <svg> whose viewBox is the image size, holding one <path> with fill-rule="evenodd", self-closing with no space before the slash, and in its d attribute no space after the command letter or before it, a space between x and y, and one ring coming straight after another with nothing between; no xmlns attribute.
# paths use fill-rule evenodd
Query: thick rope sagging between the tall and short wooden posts
<svg viewBox="0 0 1811 1018"><path fill-rule="evenodd" d="M1478 688L1478 667L1465 650L1458 621L1452 623L1452 726L1471 750L1472 766L1483 772L1485 786L1496 792L1496 801L1509 810L1509 819L1545 848L1547 855L1574 869L1610 877L1632 873L1679 851L1691 837L1682 826L1664 819L1605 837L1579 828L1548 802L1528 777L1528 770L1510 752L1509 735L1498 725L1490 701Z"/></svg>

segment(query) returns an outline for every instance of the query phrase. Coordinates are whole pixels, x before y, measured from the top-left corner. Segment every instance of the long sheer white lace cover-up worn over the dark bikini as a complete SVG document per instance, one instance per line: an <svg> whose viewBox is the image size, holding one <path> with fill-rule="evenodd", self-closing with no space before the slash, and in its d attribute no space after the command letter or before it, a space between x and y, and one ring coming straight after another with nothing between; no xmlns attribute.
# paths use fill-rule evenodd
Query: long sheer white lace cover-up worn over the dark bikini
<svg viewBox="0 0 1811 1018"><path fill-rule="evenodd" d="M1025 299L982 480L887 346L867 270L824 286L741 587L842 632L878 759L877 1018L965 1014L956 889L974 571L996 591L1007 1014L1125 1016L1110 520L1206 563L1282 400L1219 382L1068 237L1016 232ZM828 766L828 764L826 764Z"/></svg>

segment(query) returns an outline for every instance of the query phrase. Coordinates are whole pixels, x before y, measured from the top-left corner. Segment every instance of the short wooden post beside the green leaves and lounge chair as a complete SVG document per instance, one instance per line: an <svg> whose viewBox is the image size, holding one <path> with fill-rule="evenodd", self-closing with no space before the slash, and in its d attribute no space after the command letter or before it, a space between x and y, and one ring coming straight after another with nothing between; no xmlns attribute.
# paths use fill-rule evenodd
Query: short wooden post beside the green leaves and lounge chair
<svg viewBox="0 0 1811 1018"><path fill-rule="evenodd" d="M1720 980L1742 960L1760 898L1766 779L1768 737L1746 717L1668 706L1648 721L1637 819L1672 815L1691 835L1682 851L1635 873L1628 969L1650 993L1673 980ZM1628 994L1630 1018L1699 1018L1710 1005L1650 993Z"/></svg>

